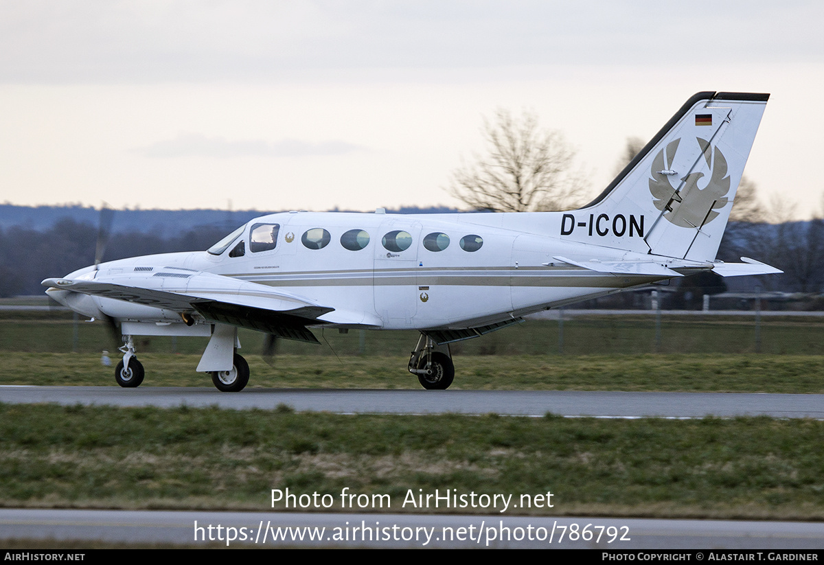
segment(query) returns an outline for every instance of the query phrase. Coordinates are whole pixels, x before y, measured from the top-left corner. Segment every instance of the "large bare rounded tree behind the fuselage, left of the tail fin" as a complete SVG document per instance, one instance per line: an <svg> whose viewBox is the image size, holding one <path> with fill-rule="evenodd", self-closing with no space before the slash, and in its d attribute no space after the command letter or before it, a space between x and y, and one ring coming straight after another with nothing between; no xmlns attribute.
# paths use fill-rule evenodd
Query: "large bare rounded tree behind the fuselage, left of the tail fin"
<svg viewBox="0 0 824 565"><path fill-rule="evenodd" d="M562 210L581 202L587 183L571 170L575 152L562 133L541 130L531 112L516 119L501 109L481 131L489 155L475 155L475 164L452 174L452 196L494 212Z"/></svg>

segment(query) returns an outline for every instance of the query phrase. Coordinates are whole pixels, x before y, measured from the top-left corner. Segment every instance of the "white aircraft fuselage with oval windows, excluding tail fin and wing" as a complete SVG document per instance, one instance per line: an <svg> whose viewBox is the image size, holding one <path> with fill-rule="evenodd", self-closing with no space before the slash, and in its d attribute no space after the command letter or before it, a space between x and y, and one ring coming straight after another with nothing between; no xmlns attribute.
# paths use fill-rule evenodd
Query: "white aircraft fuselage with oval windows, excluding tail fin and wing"
<svg viewBox="0 0 824 565"><path fill-rule="evenodd" d="M149 267L214 273L335 308L318 317L321 322L374 329L494 324L666 278L597 273L553 259L563 255L579 261L620 260L634 254L539 235L559 231L560 222L560 212L283 212L248 222L221 254L198 251L121 259L101 264L87 276L101 280ZM258 231L266 226L267 234L268 226L277 226L274 247L255 250L250 245L255 226ZM353 231L360 237L347 249L341 238ZM241 241L243 253L231 256ZM174 292L177 283L167 279L163 288ZM119 320L180 322L178 313L152 306L106 297L83 300L95 301L101 312Z"/></svg>

